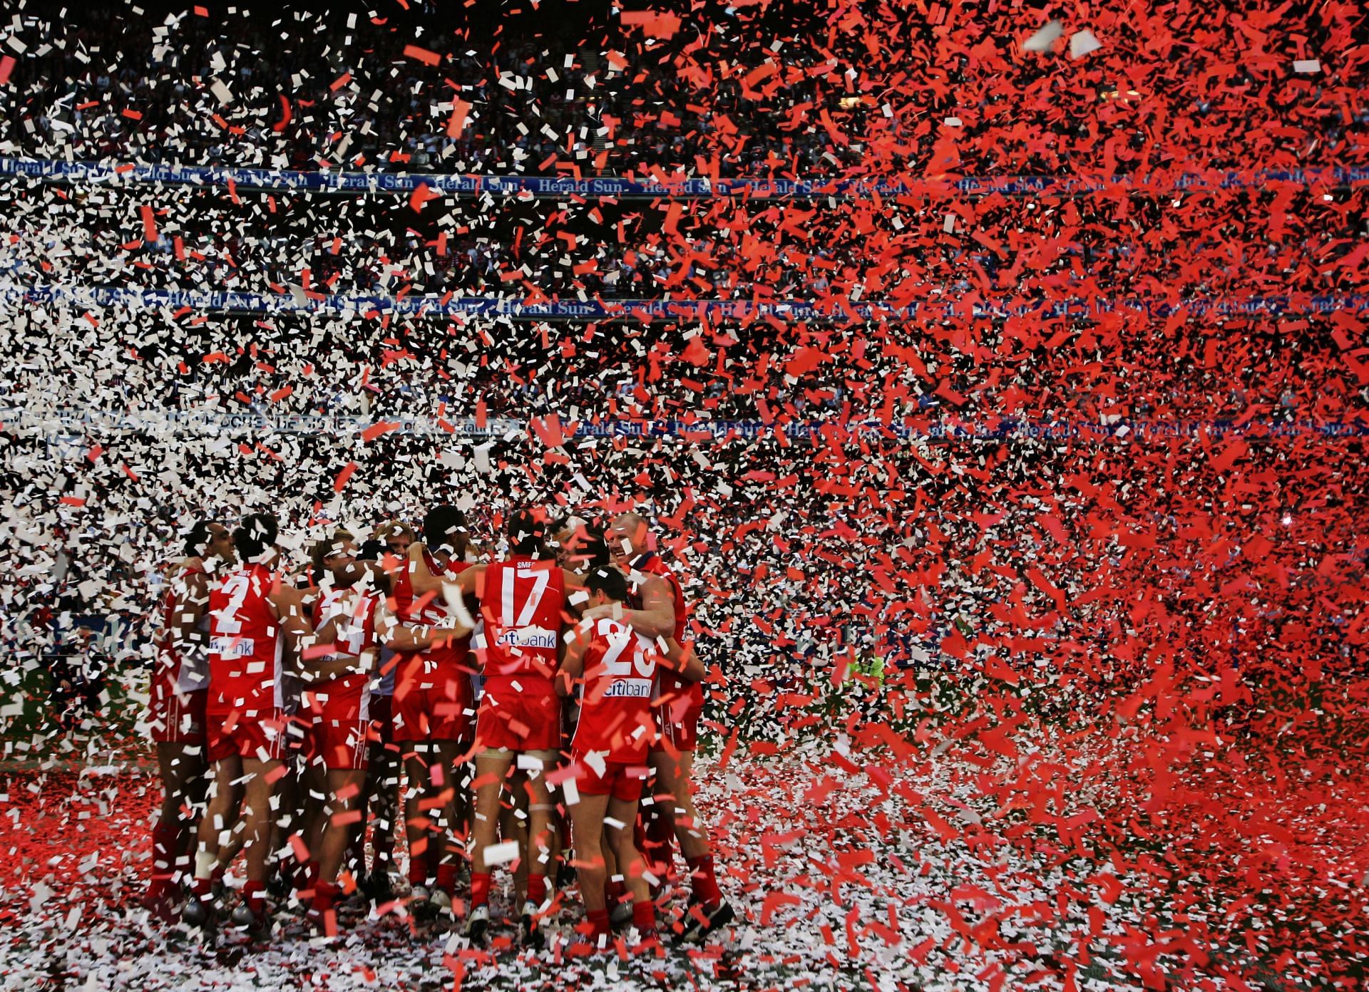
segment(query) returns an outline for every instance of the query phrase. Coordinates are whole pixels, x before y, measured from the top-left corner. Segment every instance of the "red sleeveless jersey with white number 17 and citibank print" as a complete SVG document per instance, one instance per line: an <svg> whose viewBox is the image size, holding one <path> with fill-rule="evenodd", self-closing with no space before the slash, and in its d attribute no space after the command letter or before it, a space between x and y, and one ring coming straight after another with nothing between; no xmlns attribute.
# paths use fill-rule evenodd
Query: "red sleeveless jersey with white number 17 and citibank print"
<svg viewBox="0 0 1369 992"><path fill-rule="evenodd" d="M516 554L485 569L478 654L485 676L556 675L565 577L554 561Z"/></svg>

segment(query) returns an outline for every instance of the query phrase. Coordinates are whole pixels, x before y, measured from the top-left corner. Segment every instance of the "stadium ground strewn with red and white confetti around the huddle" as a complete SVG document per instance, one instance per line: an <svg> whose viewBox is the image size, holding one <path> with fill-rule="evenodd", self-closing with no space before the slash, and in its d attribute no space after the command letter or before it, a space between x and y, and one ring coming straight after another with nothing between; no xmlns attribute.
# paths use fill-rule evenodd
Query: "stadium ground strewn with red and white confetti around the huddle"
<svg viewBox="0 0 1369 992"><path fill-rule="evenodd" d="M1108 826L1124 814L1103 742L1024 733L994 761L999 748L960 743L957 718L935 724L914 744L838 731L835 748L702 761L701 810L741 919L705 948L593 965L561 961L554 937L542 952L471 951L398 906L352 907L333 941L289 911L260 944L168 929L130 899L151 854L146 769L11 772L4 988L1273 989L1362 969L1362 769L1288 784L1207 768L1202 792L1180 787L1170 807L1191 824L1142 843ZM1028 779L1045 815L1021 815ZM578 919L567 906L553 932Z"/></svg>

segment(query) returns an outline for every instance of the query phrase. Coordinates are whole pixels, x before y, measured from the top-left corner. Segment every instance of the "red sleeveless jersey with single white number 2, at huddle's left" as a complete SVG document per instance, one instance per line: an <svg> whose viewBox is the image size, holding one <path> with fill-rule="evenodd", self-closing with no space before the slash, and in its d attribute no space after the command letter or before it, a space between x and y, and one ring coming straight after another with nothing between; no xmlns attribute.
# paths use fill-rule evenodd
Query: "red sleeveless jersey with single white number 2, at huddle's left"
<svg viewBox="0 0 1369 992"><path fill-rule="evenodd" d="M248 565L209 590L211 706L263 713L283 705L285 644L267 601L275 582L266 565Z"/></svg>

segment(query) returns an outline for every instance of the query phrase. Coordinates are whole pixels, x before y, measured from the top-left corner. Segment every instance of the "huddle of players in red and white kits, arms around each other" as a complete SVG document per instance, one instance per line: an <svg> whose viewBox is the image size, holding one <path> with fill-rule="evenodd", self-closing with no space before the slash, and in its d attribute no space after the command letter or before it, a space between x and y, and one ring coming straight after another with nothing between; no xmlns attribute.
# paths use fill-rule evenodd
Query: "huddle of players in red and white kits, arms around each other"
<svg viewBox="0 0 1369 992"><path fill-rule="evenodd" d="M368 896L420 921L464 917L478 944L507 865L535 945L574 869L586 919L572 950L628 924L649 945L678 840L690 900L661 929L702 940L732 918L690 787L705 669L641 516L598 528L519 510L507 554L481 561L465 516L442 505L422 535L392 521L359 546L334 531L294 573L277 530L263 513L231 532L201 521L168 576L149 909L212 925L241 854L230 918L249 932L267 929L268 895L327 935L340 903ZM404 898L389 873L400 815Z"/></svg>

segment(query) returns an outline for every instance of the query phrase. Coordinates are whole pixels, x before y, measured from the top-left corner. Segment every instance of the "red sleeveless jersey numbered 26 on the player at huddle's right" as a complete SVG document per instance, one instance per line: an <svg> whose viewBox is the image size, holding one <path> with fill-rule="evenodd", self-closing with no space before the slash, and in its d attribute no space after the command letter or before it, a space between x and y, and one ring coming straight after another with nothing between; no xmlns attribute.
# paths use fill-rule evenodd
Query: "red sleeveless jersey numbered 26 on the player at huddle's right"
<svg viewBox="0 0 1369 992"><path fill-rule="evenodd" d="M580 631L585 632L585 624ZM580 722L572 748L576 754L606 753L605 761L645 762L656 735L652 716L656 649L631 627L609 617L593 621L589 636Z"/></svg>

